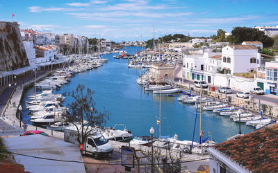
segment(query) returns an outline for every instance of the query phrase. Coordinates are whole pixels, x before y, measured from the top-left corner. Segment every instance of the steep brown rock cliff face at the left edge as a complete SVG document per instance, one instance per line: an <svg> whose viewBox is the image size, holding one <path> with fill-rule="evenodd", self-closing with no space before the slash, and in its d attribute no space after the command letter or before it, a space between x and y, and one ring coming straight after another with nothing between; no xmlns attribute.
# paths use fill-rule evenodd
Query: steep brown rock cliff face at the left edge
<svg viewBox="0 0 278 173"><path fill-rule="evenodd" d="M0 21L0 71L28 66L28 58L17 22Z"/></svg>

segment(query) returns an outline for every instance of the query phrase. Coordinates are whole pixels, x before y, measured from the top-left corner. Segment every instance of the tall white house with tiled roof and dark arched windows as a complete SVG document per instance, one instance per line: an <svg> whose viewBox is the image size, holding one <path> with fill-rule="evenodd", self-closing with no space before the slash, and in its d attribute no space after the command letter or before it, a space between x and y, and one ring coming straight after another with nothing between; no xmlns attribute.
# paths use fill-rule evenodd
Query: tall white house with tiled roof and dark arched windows
<svg viewBox="0 0 278 173"><path fill-rule="evenodd" d="M259 64L258 49L253 45L229 45L222 48L224 74L256 71Z"/></svg>

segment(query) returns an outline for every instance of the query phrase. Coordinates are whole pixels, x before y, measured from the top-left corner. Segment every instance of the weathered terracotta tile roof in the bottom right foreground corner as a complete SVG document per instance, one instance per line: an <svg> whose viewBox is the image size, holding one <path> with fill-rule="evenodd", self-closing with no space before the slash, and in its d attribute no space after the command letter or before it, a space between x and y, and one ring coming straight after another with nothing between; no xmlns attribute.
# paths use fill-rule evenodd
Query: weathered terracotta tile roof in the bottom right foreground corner
<svg viewBox="0 0 278 173"><path fill-rule="evenodd" d="M278 124L214 147L251 172L278 172Z"/></svg>

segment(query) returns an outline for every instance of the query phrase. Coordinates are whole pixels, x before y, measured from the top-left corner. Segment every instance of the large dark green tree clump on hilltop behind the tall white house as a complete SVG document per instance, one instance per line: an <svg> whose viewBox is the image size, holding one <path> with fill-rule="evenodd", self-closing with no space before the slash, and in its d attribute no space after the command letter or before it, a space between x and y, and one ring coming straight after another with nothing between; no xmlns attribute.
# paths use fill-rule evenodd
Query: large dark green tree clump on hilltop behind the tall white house
<svg viewBox="0 0 278 173"><path fill-rule="evenodd" d="M245 41L259 41L264 47L270 47L274 44L274 40L261 30L256 28L236 27L231 31L231 36L234 38L234 44L241 44ZM230 41L230 40L229 40Z"/></svg>

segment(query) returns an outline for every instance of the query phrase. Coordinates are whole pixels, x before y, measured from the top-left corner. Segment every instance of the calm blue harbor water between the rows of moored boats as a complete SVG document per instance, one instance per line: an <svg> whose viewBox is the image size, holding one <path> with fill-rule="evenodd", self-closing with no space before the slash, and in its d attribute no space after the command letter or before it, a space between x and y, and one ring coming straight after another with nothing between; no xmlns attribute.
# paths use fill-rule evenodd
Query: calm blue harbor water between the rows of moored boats
<svg viewBox="0 0 278 173"><path fill-rule="evenodd" d="M128 47L127 53L141 51L141 47ZM154 136L159 136L159 125L156 120L159 117L160 95L154 95L150 91L144 91L143 86L137 84L136 79L140 75L140 69L129 69L128 60L114 59L111 53L101 55L108 58L108 62L98 69L92 69L77 73L72 81L64 84L53 93L65 93L76 89L79 84L95 91L93 98L99 111L106 110L111 113L106 127L115 124L124 124L132 131L133 136L149 136L149 129L154 127ZM26 89L23 99L33 95L35 89ZM39 93L39 92L38 92ZM67 105L67 99L63 103ZM23 108L25 103L22 102ZM196 109L192 104L177 102L177 97L161 96L161 136L178 135L179 140L192 140L195 124ZM199 138L200 113L197 113L195 141ZM23 119L29 120L28 110L24 109ZM31 124L31 122L28 122ZM202 112L201 128L204 137L211 135L213 140L220 143L230 136L238 134L238 123L229 117L218 116L211 111ZM247 134L254 129L241 124L241 131Z"/></svg>

